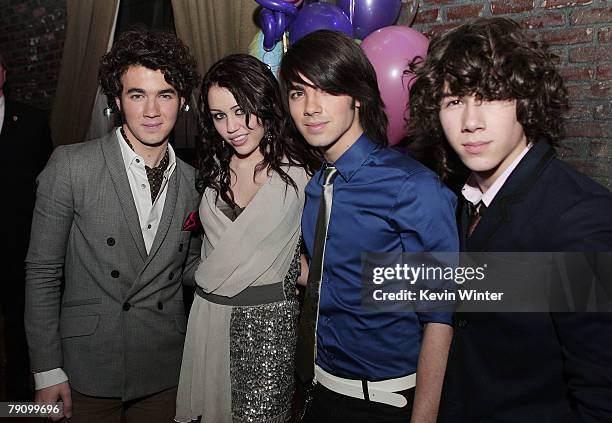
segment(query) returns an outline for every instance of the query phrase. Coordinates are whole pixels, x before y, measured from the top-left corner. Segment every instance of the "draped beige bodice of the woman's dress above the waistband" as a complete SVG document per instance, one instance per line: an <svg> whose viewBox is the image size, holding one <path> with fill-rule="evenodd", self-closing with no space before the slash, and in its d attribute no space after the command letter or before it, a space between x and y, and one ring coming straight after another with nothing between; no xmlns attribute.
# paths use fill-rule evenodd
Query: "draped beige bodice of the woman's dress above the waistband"
<svg viewBox="0 0 612 423"><path fill-rule="evenodd" d="M286 171L297 192L274 172L235 221L217 207L213 190L204 192L202 261L195 274L204 292L233 297L249 286L283 280L300 238L307 182L303 169Z"/></svg>

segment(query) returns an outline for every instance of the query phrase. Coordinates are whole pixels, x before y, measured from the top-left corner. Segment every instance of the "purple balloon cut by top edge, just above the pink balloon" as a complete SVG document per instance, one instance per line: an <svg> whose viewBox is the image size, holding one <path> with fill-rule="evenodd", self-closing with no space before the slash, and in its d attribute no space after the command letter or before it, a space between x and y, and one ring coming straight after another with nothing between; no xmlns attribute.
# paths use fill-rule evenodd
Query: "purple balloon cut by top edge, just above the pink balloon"
<svg viewBox="0 0 612 423"><path fill-rule="evenodd" d="M372 32L392 25L402 6L401 0L336 0L336 6L349 17L355 38L363 40Z"/></svg>

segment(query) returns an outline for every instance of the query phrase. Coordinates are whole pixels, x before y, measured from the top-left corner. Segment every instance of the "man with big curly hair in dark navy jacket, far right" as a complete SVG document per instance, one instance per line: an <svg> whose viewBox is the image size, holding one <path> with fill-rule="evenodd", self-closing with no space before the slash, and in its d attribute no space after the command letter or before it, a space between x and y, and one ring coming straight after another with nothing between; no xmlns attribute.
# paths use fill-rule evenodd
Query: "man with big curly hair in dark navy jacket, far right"
<svg viewBox="0 0 612 423"><path fill-rule="evenodd" d="M463 251L612 251L610 192L555 157L568 102L553 59L516 22L481 18L410 66L411 145L441 154L446 176L453 157L471 171ZM439 422L612 422L612 314L457 313L455 325Z"/></svg>

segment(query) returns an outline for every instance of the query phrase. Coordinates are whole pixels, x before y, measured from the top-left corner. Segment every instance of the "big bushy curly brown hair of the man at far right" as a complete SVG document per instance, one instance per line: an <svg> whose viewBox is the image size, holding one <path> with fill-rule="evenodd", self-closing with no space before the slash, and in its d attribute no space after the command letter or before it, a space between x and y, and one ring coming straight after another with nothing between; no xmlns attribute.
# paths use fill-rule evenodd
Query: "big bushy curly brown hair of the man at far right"
<svg viewBox="0 0 612 423"><path fill-rule="evenodd" d="M427 57L408 70L408 149L443 179L462 172L439 119L444 94L486 100L516 100L516 115L530 142L557 145L564 135L567 90L554 66L555 55L507 18L480 18L435 36Z"/></svg>

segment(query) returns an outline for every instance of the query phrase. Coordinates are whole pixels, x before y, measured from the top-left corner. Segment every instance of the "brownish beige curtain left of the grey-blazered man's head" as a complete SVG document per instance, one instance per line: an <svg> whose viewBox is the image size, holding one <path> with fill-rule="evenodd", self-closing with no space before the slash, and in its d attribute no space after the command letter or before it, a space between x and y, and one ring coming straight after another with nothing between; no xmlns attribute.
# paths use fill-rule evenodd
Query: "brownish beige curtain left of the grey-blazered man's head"
<svg viewBox="0 0 612 423"><path fill-rule="evenodd" d="M85 140L119 0L67 0L68 26L53 111L56 145Z"/></svg>

